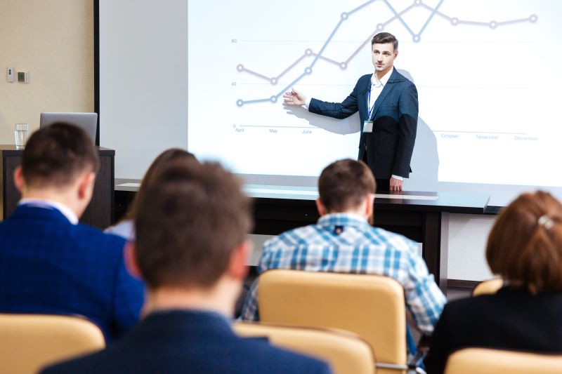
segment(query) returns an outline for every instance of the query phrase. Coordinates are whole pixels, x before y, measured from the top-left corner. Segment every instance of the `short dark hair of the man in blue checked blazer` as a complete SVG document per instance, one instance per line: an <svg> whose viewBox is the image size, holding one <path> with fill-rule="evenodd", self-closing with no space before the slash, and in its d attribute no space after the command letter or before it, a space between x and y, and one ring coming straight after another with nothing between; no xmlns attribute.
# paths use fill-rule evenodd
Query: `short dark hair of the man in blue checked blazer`
<svg viewBox="0 0 562 374"><path fill-rule="evenodd" d="M80 173L97 173L98 168L92 140L69 123L53 123L35 131L22 153L22 175L33 187L66 187Z"/></svg>

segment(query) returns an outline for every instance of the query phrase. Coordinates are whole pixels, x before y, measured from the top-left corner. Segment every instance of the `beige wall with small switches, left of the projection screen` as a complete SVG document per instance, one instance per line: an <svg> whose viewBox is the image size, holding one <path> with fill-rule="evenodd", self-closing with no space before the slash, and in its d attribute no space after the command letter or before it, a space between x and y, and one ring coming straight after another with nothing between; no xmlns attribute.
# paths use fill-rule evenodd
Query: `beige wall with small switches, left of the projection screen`
<svg viewBox="0 0 562 374"><path fill-rule="evenodd" d="M14 123L39 128L41 112L93 112L93 1L2 0L0 143ZM6 81L6 68L30 82Z"/></svg>

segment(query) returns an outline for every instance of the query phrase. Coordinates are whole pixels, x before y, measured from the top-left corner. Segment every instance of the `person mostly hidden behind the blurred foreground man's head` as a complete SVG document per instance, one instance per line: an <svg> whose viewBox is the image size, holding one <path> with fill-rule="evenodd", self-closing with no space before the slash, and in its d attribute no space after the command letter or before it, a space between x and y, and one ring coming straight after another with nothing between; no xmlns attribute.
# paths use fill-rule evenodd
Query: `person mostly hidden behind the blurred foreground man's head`
<svg viewBox="0 0 562 374"><path fill-rule="evenodd" d="M129 211L125 213L122 220L120 220L117 225L107 227L105 232L110 234L115 234L124 237L125 239L129 240L135 239L135 228L134 228L134 219L136 216L136 202L138 199L145 194L145 185L147 185L155 175L165 166L167 163L170 163L176 159L195 159L195 156L190 152L184 151L180 148L170 148L166 149L164 152L159 154L152 164L148 167L148 170L145 173L143 181L141 182L141 187L138 188L138 192L135 195L133 201L131 201L131 205L129 206Z"/></svg>

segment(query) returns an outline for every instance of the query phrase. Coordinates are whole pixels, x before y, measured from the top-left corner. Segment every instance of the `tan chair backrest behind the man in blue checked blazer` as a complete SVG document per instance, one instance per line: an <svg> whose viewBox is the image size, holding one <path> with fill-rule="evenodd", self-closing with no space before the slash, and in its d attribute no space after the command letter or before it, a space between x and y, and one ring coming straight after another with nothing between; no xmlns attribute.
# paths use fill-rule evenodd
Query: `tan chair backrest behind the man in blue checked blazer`
<svg viewBox="0 0 562 374"><path fill-rule="evenodd" d="M0 373L37 373L103 347L100 328L77 316L0 314Z"/></svg>

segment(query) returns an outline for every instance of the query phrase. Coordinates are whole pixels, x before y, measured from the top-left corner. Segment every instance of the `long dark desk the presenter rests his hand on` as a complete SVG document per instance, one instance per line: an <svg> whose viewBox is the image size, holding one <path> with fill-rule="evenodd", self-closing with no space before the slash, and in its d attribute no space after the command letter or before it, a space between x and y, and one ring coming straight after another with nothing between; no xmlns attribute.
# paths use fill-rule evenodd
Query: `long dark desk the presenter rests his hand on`
<svg viewBox="0 0 562 374"><path fill-rule="evenodd" d="M138 187L122 183L139 180L115 180L116 217L126 212ZM251 193L250 193L251 195ZM254 196L255 227L253 234L278 235L289 229L310 225L318 220L315 196L305 199L280 199ZM421 196L415 199L414 196ZM374 200L374 225L398 232L422 243L423 257L429 272L440 288L447 288L447 243L450 213L484 214L489 196L450 192L402 192Z"/></svg>

